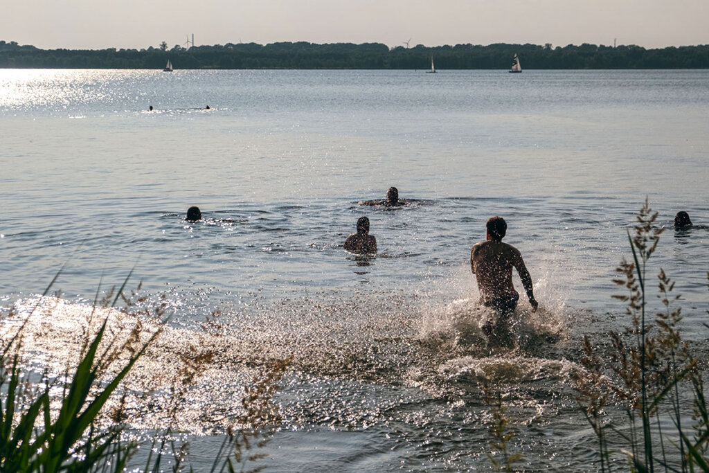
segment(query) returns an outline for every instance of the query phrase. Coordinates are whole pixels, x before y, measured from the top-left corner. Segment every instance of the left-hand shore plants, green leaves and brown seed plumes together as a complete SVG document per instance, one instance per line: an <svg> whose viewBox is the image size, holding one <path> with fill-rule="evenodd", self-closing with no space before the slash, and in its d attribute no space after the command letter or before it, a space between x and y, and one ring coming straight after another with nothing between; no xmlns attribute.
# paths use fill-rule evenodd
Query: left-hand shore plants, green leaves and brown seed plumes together
<svg viewBox="0 0 709 473"><path fill-rule="evenodd" d="M17 322L0 333L0 472L117 473L128 467L144 472L194 471L189 443L177 424L181 405L188 402L187 391L213 361L216 348L211 343L189 346L175 360L174 373L164 379L164 373L147 377L143 389L127 386L130 377L145 378L138 365L155 349L169 318L164 302L143 306L146 298L138 295L140 285L126 295L128 274L121 289L111 289L101 301L99 286L82 334L75 340L80 346L72 357L76 362L65 360L63 372L56 372L51 362L56 354L51 354L44 367L33 367L36 352L24 350L23 338L31 338L26 333L30 319L45 318L46 311L53 312L52 305L60 304L60 294L48 295L60 273L31 304L29 313L18 313L16 306L0 309L0 321ZM120 301L123 307L117 305ZM212 341L222 332L216 316L202 325L201 335ZM264 468L257 464L265 457L258 450L269 441L272 425L281 422L272 397L289 361L267 362L242 396L233 399L235 408L208 471ZM160 406L160 398L167 404ZM140 458L140 464L145 464L140 470L135 456L141 445L131 438L135 428L128 413L145 405L161 411L163 423L150 429L147 441L141 442L147 455Z"/></svg>

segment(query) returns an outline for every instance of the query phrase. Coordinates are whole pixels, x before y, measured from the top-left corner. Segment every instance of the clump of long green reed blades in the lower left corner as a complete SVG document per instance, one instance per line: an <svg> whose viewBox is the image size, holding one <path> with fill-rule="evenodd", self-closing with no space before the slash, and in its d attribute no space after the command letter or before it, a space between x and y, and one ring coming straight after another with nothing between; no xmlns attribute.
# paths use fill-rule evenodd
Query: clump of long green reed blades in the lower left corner
<svg viewBox="0 0 709 473"><path fill-rule="evenodd" d="M129 278L130 274L118 294ZM48 294L52 284L43 296ZM118 296L111 306L117 301ZM145 339L141 337L142 326L138 324L123 343L116 343L117 340L104 340L107 323L104 321L93 338L86 337L81 359L73 372L67 368L64 376L54 378L45 372L43 382L35 384L29 374L23 373L21 347L23 330L36 308L35 305L26 321L2 347L0 392L4 399L0 399L0 470L99 471L100 465L103 470L121 471L135 452L135 443L121 443L121 425L99 429L95 421L106 401L160 335L160 328ZM113 367L110 373L109 367ZM54 399L52 391L60 391L58 399ZM52 412L52 401L60 406L57 413Z"/></svg>

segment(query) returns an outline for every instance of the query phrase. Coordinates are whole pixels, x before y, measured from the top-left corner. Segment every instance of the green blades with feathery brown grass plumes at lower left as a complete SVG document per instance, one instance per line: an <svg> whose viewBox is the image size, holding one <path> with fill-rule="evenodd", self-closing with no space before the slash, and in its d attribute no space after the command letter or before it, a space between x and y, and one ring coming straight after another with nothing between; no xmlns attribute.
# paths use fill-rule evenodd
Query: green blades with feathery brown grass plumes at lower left
<svg viewBox="0 0 709 473"><path fill-rule="evenodd" d="M151 324L157 328L148 329L147 324L140 323L140 317L137 317L135 326L123 338L107 329L108 318L99 324L94 334L86 330L76 367L67 368L58 377L50 376L45 370L38 382L36 376L30 377L23 368L23 332L59 274L23 323L0 345L0 472L121 472L135 455L138 445L134 441L122 440L127 426L123 423L125 394L121 394L119 386L162 333L165 305L143 311L143 316L161 322ZM109 291L101 301L98 300L100 290L96 292L89 325L99 306L116 310L116 304L123 301L123 310L127 310L144 301L137 293L125 296L129 278L130 274L118 291ZM13 315L13 309L2 314ZM215 322L208 323L213 328ZM171 390L175 406L184 400L184 393L211 362L212 356L209 350L181 355L181 368ZM212 471L262 469L248 469L263 456L250 450L262 447L267 440L269 421L277 413L271 402L272 396L288 364L289 360L275 362L262 377L254 380L252 386L247 386L242 400L245 413L235 420L235 427L225 435ZM118 407L106 412L108 400L116 397ZM172 411L172 418L175 418L176 411L177 408ZM109 416L111 426L102 427L105 423L99 422L101 416ZM145 471L160 471L167 461L165 452L171 457L169 469L192 471L189 445L176 445L169 440L170 434L170 428L162 435L156 434ZM153 455L153 451L157 454Z"/></svg>

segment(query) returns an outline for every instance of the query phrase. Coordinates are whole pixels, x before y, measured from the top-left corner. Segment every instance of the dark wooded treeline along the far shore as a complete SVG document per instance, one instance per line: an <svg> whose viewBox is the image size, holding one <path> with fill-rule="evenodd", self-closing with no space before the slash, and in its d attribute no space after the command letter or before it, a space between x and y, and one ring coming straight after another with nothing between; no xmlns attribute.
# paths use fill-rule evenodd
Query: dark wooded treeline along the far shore
<svg viewBox="0 0 709 473"><path fill-rule="evenodd" d="M709 45L645 49L582 44L454 45L390 49L380 43L256 43L183 48L41 50L0 41L0 67L52 69L508 69L517 53L524 69L706 69Z"/></svg>

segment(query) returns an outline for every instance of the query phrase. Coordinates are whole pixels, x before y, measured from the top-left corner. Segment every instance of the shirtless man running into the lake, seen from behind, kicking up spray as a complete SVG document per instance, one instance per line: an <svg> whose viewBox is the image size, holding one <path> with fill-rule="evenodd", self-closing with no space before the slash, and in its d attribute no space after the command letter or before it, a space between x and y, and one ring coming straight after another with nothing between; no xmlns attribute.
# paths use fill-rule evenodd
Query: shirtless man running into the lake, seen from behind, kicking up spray
<svg viewBox="0 0 709 473"><path fill-rule="evenodd" d="M504 327L517 307L520 295L512 284L512 268L516 268L527 291L532 311L537 310L536 299L530 276L519 250L512 245L502 243L507 233L507 223L502 217L490 218L487 223L487 239L476 243L470 252L470 269L478 282L478 291L482 305L498 312L497 321L489 321L483 326L483 332L490 338Z"/></svg>

